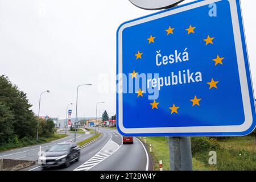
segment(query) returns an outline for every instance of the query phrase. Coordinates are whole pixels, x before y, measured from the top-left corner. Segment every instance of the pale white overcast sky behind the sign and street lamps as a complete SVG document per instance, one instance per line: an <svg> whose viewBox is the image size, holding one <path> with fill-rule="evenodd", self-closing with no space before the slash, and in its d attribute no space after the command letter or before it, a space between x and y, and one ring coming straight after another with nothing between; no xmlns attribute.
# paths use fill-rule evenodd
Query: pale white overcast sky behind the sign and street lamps
<svg viewBox="0 0 256 182"><path fill-rule="evenodd" d="M191 2L191 1L185 1ZM256 2L241 0L251 76L256 85ZM122 22L155 13L128 0L0 0L0 74L27 93L32 110L65 118L67 104L79 117L95 117L98 109L115 114L115 33ZM99 93L102 80L109 87ZM256 90L256 89L254 89ZM255 92L254 92L255 93Z"/></svg>

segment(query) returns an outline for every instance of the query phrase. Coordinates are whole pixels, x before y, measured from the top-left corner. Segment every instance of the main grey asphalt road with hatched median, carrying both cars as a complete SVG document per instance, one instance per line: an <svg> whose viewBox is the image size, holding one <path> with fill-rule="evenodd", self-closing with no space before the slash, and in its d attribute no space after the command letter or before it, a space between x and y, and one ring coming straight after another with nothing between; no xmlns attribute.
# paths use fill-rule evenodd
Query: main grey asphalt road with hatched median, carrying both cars
<svg viewBox="0 0 256 182"><path fill-rule="evenodd" d="M137 138L133 144L122 144L122 136L116 130L100 128L102 137L81 148L79 162L68 168L54 167L47 170L64 171L145 171L152 170L152 162L146 148ZM40 171L36 164L23 170Z"/></svg>

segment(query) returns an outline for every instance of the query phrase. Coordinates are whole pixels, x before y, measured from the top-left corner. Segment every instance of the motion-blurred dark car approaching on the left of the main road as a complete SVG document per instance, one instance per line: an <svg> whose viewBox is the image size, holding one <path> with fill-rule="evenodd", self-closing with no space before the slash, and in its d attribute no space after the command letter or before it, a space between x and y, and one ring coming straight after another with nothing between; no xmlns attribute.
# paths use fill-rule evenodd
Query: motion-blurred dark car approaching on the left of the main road
<svg viewBox="0 0 256 182"><path fill-rule="evenodd" d="M65 166L69 167L72 162L78 162L80 147L77 143L58 143L46 151L45 156L40 156L43 168Z"/></svg>

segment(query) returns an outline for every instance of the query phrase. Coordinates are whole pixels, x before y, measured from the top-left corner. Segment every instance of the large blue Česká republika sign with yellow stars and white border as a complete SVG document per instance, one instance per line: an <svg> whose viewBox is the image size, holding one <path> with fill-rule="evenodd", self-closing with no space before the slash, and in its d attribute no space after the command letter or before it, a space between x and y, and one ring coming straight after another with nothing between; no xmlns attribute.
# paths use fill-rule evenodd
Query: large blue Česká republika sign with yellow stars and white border
<svg viewBox="0 0 256 182"><path fill-rule="evenodd" d="M126 136L240 136L255 102L238 0L195 1L117 31L117 121Z"/></svg>

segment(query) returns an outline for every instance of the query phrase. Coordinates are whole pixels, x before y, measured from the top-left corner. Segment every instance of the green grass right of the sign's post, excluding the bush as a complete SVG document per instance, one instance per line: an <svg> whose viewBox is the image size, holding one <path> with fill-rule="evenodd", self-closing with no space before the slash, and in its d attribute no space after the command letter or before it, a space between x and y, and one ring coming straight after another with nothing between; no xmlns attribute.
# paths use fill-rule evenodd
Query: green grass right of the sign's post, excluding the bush
<svg viewBox="0 0 256 182"><path fill-rule="evenodd" d="M217 165L208 164L208 151L195 154L205 166L218 171L256 171L256 145L254 137L229 137L218 142Z"/></svg>

